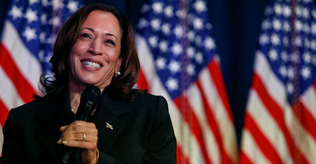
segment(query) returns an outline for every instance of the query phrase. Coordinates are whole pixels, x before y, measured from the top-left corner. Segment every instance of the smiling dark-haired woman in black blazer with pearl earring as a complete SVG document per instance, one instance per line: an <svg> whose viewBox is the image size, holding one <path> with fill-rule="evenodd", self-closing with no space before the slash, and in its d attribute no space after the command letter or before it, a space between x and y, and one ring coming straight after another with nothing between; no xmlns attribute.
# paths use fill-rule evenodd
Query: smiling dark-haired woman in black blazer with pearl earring
<svg viewBox="0 0 316 164"><path fill-rule="evenodd" d="M10 110L1 163L176 163L176 139L165 98L134 88L139 73L133 28L118 9L90 4L64 24L43 97ZM84 89L102 93L90 122L73 121ZM21 146L22 145L22 146Z"/></svg>

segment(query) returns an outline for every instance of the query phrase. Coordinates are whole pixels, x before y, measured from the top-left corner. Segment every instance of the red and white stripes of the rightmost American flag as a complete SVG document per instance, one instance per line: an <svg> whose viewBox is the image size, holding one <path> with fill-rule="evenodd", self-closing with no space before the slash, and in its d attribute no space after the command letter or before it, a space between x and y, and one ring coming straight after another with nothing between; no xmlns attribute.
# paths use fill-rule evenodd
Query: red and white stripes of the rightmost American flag
<svg viewBox="0 0 316 164"><path fill-rule="evenodd" d="M294 105L264 55L256 53L240 163L315 163L316 81Z"/></svg>

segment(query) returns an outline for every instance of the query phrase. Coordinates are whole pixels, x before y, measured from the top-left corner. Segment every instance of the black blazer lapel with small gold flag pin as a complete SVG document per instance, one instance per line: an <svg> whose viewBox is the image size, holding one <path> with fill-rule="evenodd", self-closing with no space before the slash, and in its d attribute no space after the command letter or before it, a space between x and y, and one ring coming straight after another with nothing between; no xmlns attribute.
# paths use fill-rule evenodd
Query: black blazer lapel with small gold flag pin
<svg viewBox="0 0 316 164"><path fill-rule="evenodd" d="M99 136L98 149L103 152L110 149L131 119L130 112L131 108L127 103L112 100L106 91L103 91L94 119ZM112 126L112 129L107 127L107 124Z"/></svg>

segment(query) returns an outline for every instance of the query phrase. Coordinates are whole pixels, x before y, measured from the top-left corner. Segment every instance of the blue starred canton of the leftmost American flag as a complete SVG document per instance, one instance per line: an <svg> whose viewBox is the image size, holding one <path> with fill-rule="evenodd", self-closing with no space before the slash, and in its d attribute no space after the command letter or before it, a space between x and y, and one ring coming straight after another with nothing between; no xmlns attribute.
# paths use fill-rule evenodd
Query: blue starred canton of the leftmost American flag
<svg viewBox="0 0 316 164"><path fill-rule="evenodd" d="M77 0L11 0L7 20L40 61L43 72L51 72L49 59L59 29L80 6Z"/></svg>

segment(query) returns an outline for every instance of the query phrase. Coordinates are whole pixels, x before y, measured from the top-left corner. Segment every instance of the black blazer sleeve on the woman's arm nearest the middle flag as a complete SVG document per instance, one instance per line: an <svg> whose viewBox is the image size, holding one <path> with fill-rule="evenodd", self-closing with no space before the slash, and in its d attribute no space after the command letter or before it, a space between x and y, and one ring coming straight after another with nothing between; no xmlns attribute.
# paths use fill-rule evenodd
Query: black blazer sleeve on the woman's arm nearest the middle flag
<svg viewBox="0 0 316 164"><path fill-rule="evenodd" d="M176 163L176 138L164 97L158 96L144 163Z"/></svg>

